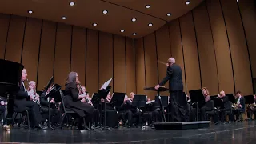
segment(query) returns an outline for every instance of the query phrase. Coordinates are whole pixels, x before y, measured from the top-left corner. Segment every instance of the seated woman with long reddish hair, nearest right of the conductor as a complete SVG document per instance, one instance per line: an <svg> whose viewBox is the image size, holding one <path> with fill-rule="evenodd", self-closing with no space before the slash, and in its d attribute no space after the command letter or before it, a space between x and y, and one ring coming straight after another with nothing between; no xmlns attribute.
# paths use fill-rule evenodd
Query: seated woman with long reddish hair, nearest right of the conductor
<svg viewBox="0 0 256 144"><path fill-rule="evenodd" d="M205 97L205 102L202 104L202 107L200 109L200 115L201 115L201 121L206 120L206 111L211 111L212 106L210 102L210 94L209 91L206 89L206 87L202 88L202 94Z"/></svg>

